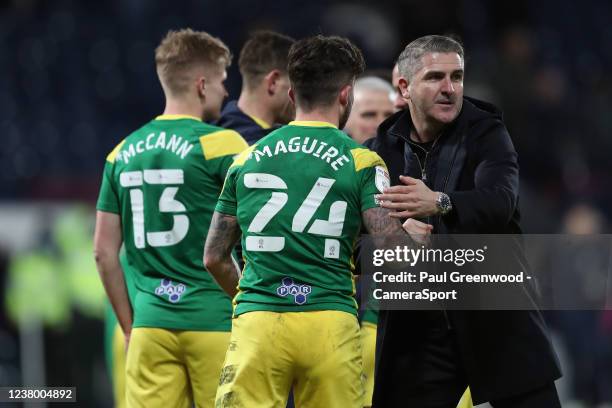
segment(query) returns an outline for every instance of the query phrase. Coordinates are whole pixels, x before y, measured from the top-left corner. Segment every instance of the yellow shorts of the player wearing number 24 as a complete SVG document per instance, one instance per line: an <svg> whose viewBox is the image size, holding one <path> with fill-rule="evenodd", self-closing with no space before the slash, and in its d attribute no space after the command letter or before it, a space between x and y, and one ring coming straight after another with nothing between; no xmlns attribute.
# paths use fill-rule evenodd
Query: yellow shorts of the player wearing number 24
<svg viewBox="0 0 612 408"><path fill-rule="evenodd" d="M216 408L362 408L357 318L335 310L249 312L232 321Z"/></svg>

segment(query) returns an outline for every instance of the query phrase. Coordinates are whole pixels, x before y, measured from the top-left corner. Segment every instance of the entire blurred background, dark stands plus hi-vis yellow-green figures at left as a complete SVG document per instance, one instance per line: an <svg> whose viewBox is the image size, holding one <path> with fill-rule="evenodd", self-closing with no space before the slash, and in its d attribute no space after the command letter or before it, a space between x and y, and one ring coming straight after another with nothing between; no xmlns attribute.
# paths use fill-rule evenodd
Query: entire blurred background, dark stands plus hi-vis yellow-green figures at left
<svg viewBox="0 0 612 408"><path fill-rule="evenodd" d="M0 2L0 386L112 405L94 203L106 154L163 109L153 49L168 29L208 31L235 56L257 28L345 35L387 77L412 39L456 34L466 94L504 110L519 152L525 232L608 233L610 22L612 2L592 0ZM610 312L549 317L564 400L612 404Z"/></svg>

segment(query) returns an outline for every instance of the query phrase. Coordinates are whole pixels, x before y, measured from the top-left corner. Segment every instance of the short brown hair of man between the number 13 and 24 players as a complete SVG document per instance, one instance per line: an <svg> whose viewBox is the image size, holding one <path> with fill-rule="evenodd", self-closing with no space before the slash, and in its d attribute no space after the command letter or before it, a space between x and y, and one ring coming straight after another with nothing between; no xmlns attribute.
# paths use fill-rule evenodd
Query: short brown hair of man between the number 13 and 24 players
<svg viewBox="0 0 612 408"><path fill-rule="evenodd" d="M289 48L295 40L289 36L274 31L255 31L240 51L238 67L242 80L248 88L268 72L278 69L287 72L287 56Z"/></svg>

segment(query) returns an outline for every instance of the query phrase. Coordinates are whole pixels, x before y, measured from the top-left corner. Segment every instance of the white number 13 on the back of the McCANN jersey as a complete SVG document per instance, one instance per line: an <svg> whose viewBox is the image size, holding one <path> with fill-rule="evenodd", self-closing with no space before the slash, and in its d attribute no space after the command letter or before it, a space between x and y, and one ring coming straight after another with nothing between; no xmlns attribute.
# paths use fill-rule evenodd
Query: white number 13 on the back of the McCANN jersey
<svg viewBox="0 0 612 408"><path fill-rule="evenodd" d="M119 175L119 183L122 187L130 188L130 203L132 206L132 222L134 226L134 245L136 248L145 247L145 223L144 223L144 195L141 187L143 184L183 184L183 170L144 170L125 171ZM166 187L159 198L159 211L163 213L185 212L186 208L174 196L178 187ZM189 230L189 218L185 214L174 214L174 225L168 231L156 231L146 233L146 243L152 247L164 247L178 244L185 238Z"/></svg>

